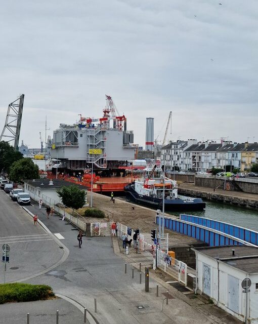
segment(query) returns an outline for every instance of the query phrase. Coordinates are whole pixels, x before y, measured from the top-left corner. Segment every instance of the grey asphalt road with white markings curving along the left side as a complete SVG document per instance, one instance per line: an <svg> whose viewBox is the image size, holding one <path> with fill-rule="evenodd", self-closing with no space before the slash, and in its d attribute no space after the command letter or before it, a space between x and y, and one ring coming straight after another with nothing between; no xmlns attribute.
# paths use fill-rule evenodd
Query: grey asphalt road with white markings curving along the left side
<svg viewBox="0 0 258 324"><path fill-rule="evenodd" d="M34 226L32 217L0 190L0 249L6 242L11 247L6 282L48 271L64 254L53 237L41 226ZM4 263L1 262L0 283L3 282Z"/></svg>

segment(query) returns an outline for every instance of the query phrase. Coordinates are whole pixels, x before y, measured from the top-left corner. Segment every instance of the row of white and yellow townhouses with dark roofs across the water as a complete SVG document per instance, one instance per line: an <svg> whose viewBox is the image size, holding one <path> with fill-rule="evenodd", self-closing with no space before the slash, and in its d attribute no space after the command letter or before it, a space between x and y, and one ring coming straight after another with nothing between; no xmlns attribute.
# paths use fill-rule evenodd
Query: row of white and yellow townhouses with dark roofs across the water
<svg viewBox="0 0 258 324"><path fill-rule="evenodd" d="M251 169L258 163L258 143L170 142L161 148L161 161L167 169L205 171L212 168Z"/></svg>

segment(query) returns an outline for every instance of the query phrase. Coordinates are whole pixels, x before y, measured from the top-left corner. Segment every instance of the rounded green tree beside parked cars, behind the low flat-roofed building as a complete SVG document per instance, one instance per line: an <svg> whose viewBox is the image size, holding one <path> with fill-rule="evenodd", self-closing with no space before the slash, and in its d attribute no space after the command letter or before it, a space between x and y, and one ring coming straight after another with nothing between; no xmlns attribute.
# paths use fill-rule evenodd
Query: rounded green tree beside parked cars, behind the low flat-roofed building
<svg viewBox="0 0 258 324"><path fill-rule="evenodd" d="M21 158L10 167L10 180L20 182L23 179L38 179L38 166L29 157Z"/></svg>

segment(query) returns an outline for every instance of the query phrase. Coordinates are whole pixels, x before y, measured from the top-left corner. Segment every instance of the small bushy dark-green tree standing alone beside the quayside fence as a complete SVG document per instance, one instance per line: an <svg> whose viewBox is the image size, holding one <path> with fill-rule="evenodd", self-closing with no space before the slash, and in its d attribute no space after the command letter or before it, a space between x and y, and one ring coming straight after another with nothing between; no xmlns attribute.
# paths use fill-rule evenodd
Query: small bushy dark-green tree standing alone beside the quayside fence
<svg viewBox="0 0 258 324"><path fill-rule="evenodd" d="M67 207L75 209L82 208L85 205L85 191L79 189L77 186L62 187L57 190L57 194L62 198L63 204Z"/></svg>

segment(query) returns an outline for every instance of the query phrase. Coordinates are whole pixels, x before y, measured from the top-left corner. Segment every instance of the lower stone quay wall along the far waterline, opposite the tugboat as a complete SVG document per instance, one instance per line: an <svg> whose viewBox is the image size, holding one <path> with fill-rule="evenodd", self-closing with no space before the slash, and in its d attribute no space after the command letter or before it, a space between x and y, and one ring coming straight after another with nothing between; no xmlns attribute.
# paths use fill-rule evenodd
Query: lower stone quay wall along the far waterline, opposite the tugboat
<svg viewBox="0 0 258 324"><path fill-rule="evenodd" d="M249 209L258 209L258 200L240 198L240 197L232 197L229 195L219 194L216 192L206 192L200 191L198 189L178 189L179 194L190 196L190 197L200 197L205 200L218 201L218 203L228 203L234 206L246 207Z"/></svg>

